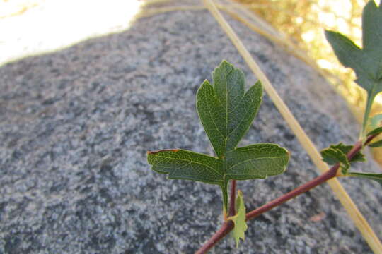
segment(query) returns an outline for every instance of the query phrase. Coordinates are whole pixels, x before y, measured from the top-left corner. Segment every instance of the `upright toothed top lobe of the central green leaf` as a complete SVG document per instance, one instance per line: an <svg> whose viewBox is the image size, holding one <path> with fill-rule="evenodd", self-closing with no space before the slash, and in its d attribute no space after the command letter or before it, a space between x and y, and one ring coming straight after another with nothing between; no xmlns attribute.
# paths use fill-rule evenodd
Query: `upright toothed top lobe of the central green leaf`
<svg viewBox="0 0 382 254"><path fill-rule="evenodd" d="M197 91L197 111L217 157L235 149L248 131L262 100L257 82L244 93L244 74L231 63L222 61Z"/></svg>

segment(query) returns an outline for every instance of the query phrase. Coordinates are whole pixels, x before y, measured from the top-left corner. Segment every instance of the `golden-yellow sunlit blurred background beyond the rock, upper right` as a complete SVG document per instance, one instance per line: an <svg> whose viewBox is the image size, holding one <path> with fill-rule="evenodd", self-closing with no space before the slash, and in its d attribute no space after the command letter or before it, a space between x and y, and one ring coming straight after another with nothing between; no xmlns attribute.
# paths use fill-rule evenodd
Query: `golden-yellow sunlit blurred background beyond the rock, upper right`
<svg viewBox="0 0 382 254"><path fill-rule="evenodd" d="M325 40L324 29L341 32L362 47L361 15L369 0L235 0L289 35L320 68L334 74L327 76L338 92L347 99L349 108L361 122L366 92L354 83L355 74L344 68ZM376 2L378 5L379 2ZM382 24L381 24L382 25ZM376 97L371 116L382 113L382 96ZM382 149L372 150L382 164Z"/></svg>

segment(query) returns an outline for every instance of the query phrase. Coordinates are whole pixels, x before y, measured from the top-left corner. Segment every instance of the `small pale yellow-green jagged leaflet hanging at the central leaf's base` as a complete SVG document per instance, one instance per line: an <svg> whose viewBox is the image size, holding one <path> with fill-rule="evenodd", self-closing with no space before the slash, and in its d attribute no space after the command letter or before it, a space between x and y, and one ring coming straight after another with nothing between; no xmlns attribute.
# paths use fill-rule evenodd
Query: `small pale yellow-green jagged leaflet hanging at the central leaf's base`
<svg viewBox="0 0 382 254"><path fill-rule="evenodd" d="M236 241L236 248L238 248L238 244L240 243L240 239L245 239L245 231L248 229L247 224L245 223L245 205L243 200L243 193L238 190L238 196L235 201L236 207L236 215L232 217L228 217L228 220L232 220L235 226L233 227L232 234L233 238Z"/></svg>

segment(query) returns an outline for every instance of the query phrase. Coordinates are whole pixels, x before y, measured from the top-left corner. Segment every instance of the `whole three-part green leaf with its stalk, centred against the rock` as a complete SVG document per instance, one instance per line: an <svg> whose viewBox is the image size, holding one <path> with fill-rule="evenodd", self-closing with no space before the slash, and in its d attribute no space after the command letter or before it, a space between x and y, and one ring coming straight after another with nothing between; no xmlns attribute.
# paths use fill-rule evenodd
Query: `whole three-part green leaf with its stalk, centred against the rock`
<svg viewBox="0 0 382 254"><path fill-rule="evenodd" d="M221 187L224 212L228 207L228 181L264 179L281 174L289 152L276 144L236 147L248 131L262 99L260 82L244 91L244 74L222 61L213 73L213 85L205 80L197 92L197 111L217 157L187 150L148 152L154 171L169 179L185 179Z"/></svg>

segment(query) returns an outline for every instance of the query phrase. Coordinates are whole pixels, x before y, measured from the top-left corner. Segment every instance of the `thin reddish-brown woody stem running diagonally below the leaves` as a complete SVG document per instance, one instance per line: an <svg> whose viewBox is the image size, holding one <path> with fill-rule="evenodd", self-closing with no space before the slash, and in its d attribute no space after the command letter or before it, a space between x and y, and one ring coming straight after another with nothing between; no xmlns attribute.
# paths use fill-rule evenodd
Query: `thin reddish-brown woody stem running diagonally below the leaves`
<svg viewBox="0 0 382 254"><path fill-rule="evenodd" d="M368 143L370 143L371 140L373 140L373 138L375 138L376 136L377 135L370 135L366 139L364 145L367 145ZM362 147L363 147L362 141L358 141L357 143L355 143L352 150L350 150L350 152L347 153L347 159L352 159L352 157L354 157L354 155L356 155L357 152L359 152L362 149ZM308 183L305 183L302 186L295 188L293 191L290 191L289 193L284 194L281 197L276 198L276 199L268 202L267 204L262 205L261 207L258 207L257 209L255 209L251 212L248 212L246 214L247 221L259 216L260 214L263 214L264 212L271 210L274 207L282 205L284 202L287 202L288 200L296 197L297 195L301 195L302 193L306 193L307 191L311 190L312 188L315 188L316 186L318 186L322 183L325 183L325 181L328 181L329 179L332 179L333 177L336 176L337 170L339 168L340 168L340 164L335 164L328 171L326 171L325 173L316 177L315 179L308 181ZM232 211L231 209L233 209L233 211L234 211L233 200L235 198L235 190L234 190L235 186L236 186L235 181L232 181L231 191L233 190L233 194L231 192L230 215L231 215L231 211ZM232 204L233 204L233 207L232 207ZM221 228L219 229L219 231L216 231L216 233L211 238L209 238L209 241L207 241L207 243L204 243L204 245L201 248L199 248L199 250L197 250L196 253L197 254L207 253L207 251L210 248L214 247L216 245L216 243L219 242L222 238L224 238L224 236L226 236L229 232L231 232L232 229L233 229L233 222L231 222L231 221L224 222L223 225L221 226Z"/></svg>

